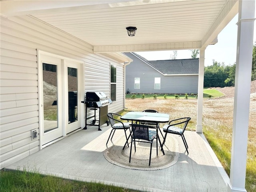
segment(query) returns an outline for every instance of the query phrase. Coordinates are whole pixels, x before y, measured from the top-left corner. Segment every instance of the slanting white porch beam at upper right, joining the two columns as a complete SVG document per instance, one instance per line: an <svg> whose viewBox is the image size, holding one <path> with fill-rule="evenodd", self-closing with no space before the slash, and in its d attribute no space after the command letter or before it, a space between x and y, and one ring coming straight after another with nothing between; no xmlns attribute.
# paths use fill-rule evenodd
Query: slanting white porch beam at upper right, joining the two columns
<svg viewBox="0 0 256 192"><path fill-rule="evenodd" d="M202 38L202 48L206 48L212 42L216 43L218 34L225 28L225 26L236 16L238 13L238 0L229 0L225 7L220 12L204 38ZM214 43L214 44L215 44Z"/></svg>

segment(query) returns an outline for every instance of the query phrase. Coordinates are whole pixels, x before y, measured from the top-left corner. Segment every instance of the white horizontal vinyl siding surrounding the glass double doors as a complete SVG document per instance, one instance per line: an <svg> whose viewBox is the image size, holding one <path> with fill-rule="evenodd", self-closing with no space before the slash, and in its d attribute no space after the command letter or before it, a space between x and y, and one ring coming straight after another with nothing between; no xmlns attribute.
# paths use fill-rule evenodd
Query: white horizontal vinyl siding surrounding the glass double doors
<svg viewBox="0 0 256 192"><path fill-rule="evenodd" d="M110 62L116 66L116 98L110 112L124 108L124 67L92 46L30 16L1 17L0 168L40 150L37 49L84 62L84 91L110 97ZM40 134L40 133L39 133Z"/></svg>

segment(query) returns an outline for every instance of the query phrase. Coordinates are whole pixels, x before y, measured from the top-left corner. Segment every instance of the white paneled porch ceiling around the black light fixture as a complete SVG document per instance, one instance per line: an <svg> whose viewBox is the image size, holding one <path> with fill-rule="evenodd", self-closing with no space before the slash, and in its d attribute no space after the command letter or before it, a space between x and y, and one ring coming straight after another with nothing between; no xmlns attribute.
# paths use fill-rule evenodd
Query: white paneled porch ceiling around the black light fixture
<svg viewBox="0 0 256 192"><path fill-rule="evenodd" d="M205 47L238 12L236 0L55 0L45 1L44 6L39 2L16 3L16 9L12 3L1 12L31 15L97 50L108 51L130 45L138 45L135 51ZM134 37L128 36L128 26L138 28Z"/></svg>

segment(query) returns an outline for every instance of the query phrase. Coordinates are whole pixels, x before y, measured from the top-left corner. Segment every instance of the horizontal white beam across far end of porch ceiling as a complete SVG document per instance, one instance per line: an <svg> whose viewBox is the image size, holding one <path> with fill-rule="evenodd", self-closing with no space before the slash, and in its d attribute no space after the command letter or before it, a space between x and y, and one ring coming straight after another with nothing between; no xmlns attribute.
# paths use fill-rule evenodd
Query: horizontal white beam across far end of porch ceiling
<svg viewBox="0 0 256 192"><path fill-rule="evenodd" d="M200 49L201 42L176 42L176 43L155 43L155 44L137 44L137 45L110 45L93 46L94 53L107 52L140 52L140 51L159 51L159 50L184 50Z"/></svg>

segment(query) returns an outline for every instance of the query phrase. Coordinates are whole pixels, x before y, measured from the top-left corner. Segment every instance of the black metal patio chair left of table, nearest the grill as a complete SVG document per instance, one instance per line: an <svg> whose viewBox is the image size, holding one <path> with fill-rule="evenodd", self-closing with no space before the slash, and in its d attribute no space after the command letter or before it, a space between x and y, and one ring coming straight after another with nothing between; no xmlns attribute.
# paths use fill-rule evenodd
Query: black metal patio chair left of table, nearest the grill
<svg viewBox="0 0 256 192"><path fill-rule="evenodd" d="M119 129L119 130L124 130L124 134L125 134L125 137L126 137L126 143L124 144L124 147L126 146L126 144L127 144L127 146L129 147L128 139L129 139L130 136L131 136L130 127L131 127L131 124L132 124L132 123L131 123L131 122L128 122L128 121L127 121L127 122L122 122L122 121L120 121L120 120L117 120L116 118L113 117L113 115L116 115L116 116L121 116L121 115L116 114L116 113L108 113L107 115L108 115L108 120L110 121L110 125L111 125L111 127L112 127L112 130L111 130L111 132L110 132L110 134L109 134L109 137L108 137L108 140L107 140L107 142L106 142L106 145L108 144L108 141L109 141L109 139L110 139L110 136L111 136L112 132L113 132L113 134L112 134L112 137L111 137L110 140L112 140L112 138L113 138L113 136L114 136L116 130ZM130 132L128 137L127 137L127 134L126 134L126 131L127 131L127 130L129 130L129 132ZM124 147L123 147L123 150L124 150Z"/></svg>

